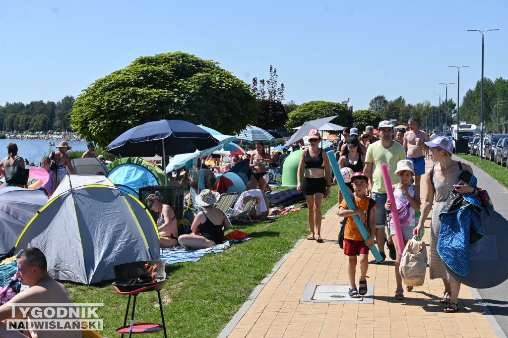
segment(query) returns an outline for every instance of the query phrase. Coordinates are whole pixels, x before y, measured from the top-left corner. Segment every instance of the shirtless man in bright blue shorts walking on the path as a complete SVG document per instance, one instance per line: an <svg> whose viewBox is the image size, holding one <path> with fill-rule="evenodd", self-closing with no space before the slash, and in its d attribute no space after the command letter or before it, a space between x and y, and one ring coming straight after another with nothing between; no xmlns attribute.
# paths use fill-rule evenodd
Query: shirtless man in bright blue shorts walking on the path
<svg viewBox="0 0 508 338"><path fill-rule="evenodd" d="M418 119L411 117L407 122L409 131L404 134L404 150L406 151L407 159L413 162L415 167L415 184L420 185L420 179L425 174L425 157L423 150L425 148L424 142L428 142L429 137L423 131L418 129Z"/></svg>

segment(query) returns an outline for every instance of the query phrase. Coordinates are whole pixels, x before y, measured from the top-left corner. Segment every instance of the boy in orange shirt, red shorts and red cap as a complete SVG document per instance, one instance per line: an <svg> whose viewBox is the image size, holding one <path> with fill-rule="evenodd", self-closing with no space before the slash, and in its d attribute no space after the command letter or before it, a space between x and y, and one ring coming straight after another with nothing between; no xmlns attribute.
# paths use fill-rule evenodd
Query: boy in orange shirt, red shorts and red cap
<svg viewBox="0 0 508 338"><path fill-rule="evenodd" d="M369 267L369 248L374 245L374 235L376 230L375 222L375 202L370 203L370 197L367 196L368 177L364 172L353 174L353 202L356 209L347 209L347 204L343 199L339 205L339 216L347 217L344 228L344 254L349 256L349 265L347 273L350 279L349 295L351 298L360 298L367 293L367 269ZM353 215L358 215L363 225L369 232L370 237L365 241L358 229ZM367 222L368 221L368 222ZM357 289L356 279L356 265L357 255L360 256L360 287ZM362 286L364 285L364 286ZM359 293L360 291L360 293Z"/></svg>

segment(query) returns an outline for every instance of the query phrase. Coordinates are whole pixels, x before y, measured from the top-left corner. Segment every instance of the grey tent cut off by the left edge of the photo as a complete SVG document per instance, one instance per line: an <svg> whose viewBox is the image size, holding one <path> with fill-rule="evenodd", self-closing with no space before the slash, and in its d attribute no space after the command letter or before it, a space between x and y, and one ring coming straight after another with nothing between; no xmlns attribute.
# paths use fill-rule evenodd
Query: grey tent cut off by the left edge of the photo
<svg viewBox="0 0 508 338"><path fill-rule="evenodd" d="M48 197L41 190L0 189L0 259L7 257L26 223L47 201Z"/></svg>

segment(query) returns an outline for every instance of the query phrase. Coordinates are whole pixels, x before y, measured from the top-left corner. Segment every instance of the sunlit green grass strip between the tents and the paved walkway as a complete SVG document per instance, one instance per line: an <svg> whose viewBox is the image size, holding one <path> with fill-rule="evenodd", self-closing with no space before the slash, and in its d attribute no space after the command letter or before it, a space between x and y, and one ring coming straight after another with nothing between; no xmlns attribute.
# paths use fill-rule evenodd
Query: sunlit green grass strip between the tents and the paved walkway
<svg viewBox="0 0 508 338"><path fill-rule="evenodd" d="M332 186L332 197L324 200L323 213L336 204L337 189ZM282 256L309 234L307 210L283 215L276 221L234 222L232 229L245 231L252 239L222 253L206 254L197 262L166 266L170 279L161 296L168 336L216 337ZM66 287L76 302L104 302L104 308L97 312L104 319L101 333L117 336L114 330L123 324L128 296L118 294L107 283ZM160 323L160 316L157 293L141 293L135 322Z"/></svg>

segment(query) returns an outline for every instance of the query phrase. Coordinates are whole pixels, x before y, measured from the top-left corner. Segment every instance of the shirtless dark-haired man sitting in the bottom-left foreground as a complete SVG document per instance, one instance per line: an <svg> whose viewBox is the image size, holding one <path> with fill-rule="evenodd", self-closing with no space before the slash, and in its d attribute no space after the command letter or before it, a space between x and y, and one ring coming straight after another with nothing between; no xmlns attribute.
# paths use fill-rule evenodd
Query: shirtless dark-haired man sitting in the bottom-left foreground
<svg viewBox="0 0 508 338"><path fill-rule="evenodd" d="M16 330L8 330L6 319L19 319L23 318L23 312L26 313L27 320L36 322L37 320L55 319L55 317L46 317L51 311L37 311L37 307L23 306L12 307L14 303L40 303L40 308L48 309L48 303L70 303L74 304L69 292L62 284L55 281L51 276L48 275L46 268L46 257L38 248L29 248L21 251L18 255L18 271L16 276L19 277L20 282L23 285L30 286L29 289L21 291L15 295L11 300L0 307L0 336L1 337L25 337L23 333ZM26 309L29 308L28 311ZM67 308L67 307L66 307ZM15 315L12 315L12 310L15 309ZM31 317L32 310L37 311L37 314L41 317ZM54 309L58 311L60 307ZM23 310L23 312L21 311ZM69 318L58 318L58 319L69 319ZM70 321L73 321L70 319ZM66 329L65 334L56 330L40 330L28 329L27 334L29 337L81 337L81 330L70 330Z"/></svg>

